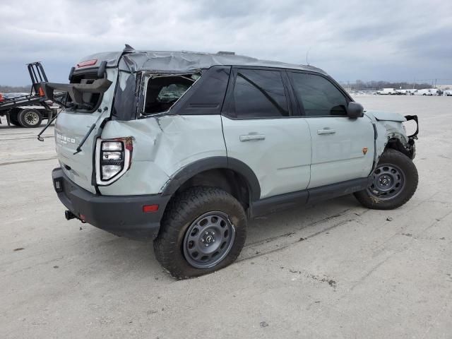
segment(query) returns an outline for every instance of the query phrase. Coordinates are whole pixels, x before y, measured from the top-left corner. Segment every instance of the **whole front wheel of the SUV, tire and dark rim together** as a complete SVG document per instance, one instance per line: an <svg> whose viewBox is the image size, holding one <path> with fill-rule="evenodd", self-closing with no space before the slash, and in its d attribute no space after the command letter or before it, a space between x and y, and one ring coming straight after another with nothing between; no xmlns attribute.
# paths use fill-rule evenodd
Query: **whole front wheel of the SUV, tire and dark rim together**
<svg viewBox="0 0 452 339"><path fill-rule="evenodd" d="M417 169L412 160L391 148L381 155L371 186L355 193L364 207L392 210L410 200L417 189Z"/></svg>

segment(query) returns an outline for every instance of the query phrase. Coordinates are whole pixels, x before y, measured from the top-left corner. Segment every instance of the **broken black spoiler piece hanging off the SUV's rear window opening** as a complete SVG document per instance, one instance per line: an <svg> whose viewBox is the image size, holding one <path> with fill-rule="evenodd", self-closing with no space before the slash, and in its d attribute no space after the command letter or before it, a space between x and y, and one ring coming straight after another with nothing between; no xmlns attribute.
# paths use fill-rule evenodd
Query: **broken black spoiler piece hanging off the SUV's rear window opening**
<svg viewBox="0 0 452 339"><path fill-rule="evenodd" d="M76 105L83 105L83 93L105 93L112 85L112 81L107 79L96 79L93 83L40 83L45 97L54 101L54 90L61 90L69 93L72 102Z"/></svg>

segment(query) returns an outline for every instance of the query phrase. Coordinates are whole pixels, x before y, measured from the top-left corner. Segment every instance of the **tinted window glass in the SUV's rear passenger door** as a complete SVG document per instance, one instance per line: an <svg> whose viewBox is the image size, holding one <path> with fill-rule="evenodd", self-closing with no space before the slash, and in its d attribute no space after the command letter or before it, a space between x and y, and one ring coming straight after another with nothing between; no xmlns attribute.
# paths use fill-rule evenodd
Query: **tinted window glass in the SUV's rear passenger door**
<svg viewBox="0 0 452 339"><path fill-rule="evenodd" d="M289 108L279 71L238 69L232 115L239 119L288 117Z"/></svg>

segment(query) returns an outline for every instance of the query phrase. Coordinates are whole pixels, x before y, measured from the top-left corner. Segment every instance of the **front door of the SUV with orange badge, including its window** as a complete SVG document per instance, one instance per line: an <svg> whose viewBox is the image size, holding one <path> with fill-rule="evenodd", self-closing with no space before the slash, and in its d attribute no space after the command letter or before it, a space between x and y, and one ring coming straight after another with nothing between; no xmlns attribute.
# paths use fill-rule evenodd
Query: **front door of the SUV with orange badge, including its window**
<svg viewBox="0 0 452 339"><path fill-rule="evenodd" d="M287 72L312 141L309 188L367 177L374 161L374 127L364 115L347 117L350 97L329 78Z"/></svg>

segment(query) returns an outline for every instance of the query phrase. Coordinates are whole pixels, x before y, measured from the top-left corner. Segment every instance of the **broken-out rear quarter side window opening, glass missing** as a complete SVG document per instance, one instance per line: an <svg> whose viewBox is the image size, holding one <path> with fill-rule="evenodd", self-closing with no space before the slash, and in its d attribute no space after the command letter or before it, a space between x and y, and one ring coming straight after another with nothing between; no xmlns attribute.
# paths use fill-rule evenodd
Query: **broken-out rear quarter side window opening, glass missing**
<svg viewBox="0 0 452 339"><path fill-rule="evenodd" d="M150 78L146 88L144 114L167 112L200 76L200 73L193 73Z"/></svg>

